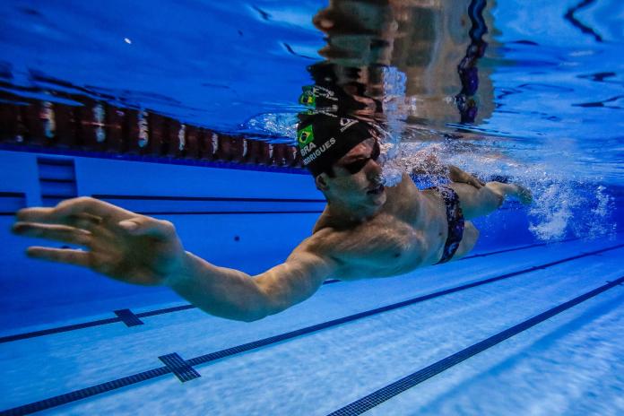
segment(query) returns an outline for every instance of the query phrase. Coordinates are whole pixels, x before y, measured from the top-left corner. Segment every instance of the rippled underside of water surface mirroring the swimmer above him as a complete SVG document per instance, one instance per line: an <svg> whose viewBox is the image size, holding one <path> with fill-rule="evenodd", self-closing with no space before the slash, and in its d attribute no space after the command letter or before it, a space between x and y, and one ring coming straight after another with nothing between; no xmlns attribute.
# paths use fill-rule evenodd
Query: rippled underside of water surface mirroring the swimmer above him
<svg viewBox="0 0 624 416"><path fill-rule="evenodd" d="M429 154L515 178L542 202L544 236L550 218L609 211L620 192L615 0L0 7L0 98L13 105L83 97L292 143L301 87L316 85L340 95L340 111L383 127L388 178Z"/></svg>

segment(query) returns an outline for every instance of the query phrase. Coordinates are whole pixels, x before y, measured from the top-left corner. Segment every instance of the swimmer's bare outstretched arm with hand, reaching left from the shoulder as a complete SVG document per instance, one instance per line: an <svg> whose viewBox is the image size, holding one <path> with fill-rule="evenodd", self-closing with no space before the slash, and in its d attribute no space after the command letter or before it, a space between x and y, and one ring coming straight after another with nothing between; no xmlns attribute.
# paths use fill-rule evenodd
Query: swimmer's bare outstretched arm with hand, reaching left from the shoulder
<svg viewBox="0 0 624 416"><path fill-rule="evenodd" d="M252 278L186 252L169 221L89 197L20 210L13 232L86 248L29 247L30 257L80 265L123 282L166 285L212 315L242 321L308 299L336 269L333 260L316 252L313 236L284 264Z"/></svg>

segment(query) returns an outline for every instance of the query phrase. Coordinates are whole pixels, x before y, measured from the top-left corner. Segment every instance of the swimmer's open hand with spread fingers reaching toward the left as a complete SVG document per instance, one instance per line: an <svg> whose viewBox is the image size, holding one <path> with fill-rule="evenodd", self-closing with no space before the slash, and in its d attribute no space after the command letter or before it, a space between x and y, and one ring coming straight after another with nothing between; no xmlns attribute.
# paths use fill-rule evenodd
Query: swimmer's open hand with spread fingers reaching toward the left
<svg viewBox="0 0 624 416"><path fill-rule="evenodd" d="M90 197L66 200L54 208L22 209L13 233L85 248L29 247L30 257L88 267L134 284L163 284L181 273L186 258L169 221Z"/></svg>

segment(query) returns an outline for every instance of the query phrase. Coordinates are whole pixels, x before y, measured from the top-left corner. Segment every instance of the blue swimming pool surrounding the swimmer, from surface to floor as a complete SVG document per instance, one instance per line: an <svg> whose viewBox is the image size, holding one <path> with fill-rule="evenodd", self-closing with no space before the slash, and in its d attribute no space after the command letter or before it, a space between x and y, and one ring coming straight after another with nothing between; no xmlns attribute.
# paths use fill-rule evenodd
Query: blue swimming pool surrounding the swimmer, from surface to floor
<svg viewBox="0 0 624 416"><path fill-rule="evenodd" d="M9 229L24 206L92 195L174 222L186 249L214 264L260 273L282 262L325 205L288 146L306 67L325 45L312 16L327 4L4 4L3 106L52 102L57 121L95 102L134 122L144 112L166 145L152 147L151 135L147 151L105 148L97 126L60 122L74 141L46 143L43 122L41 137L18 141L22 127L4 125L0 414L623 412L622 6L500 1L481 12L490 34L470 38L468 6L485 2L439 3L419 13L464 22L448 35L464 36L461 48L444 49L454 78L415 90L431 73L402 71L396 56L385 67L388 130L403 132L388 169L434 152L531 186L535 204L478 221L479 245L462 260L327 281L253 323L209 316L163 288L34 262L23 256L34 240ZM437 98L465 87L455 66L481 37L479 88L463 90L479 109L470 122ZM431 54L435 71L448 64ZM181 126L180 145L196 131L214 148L178 149Z"/></svg>

